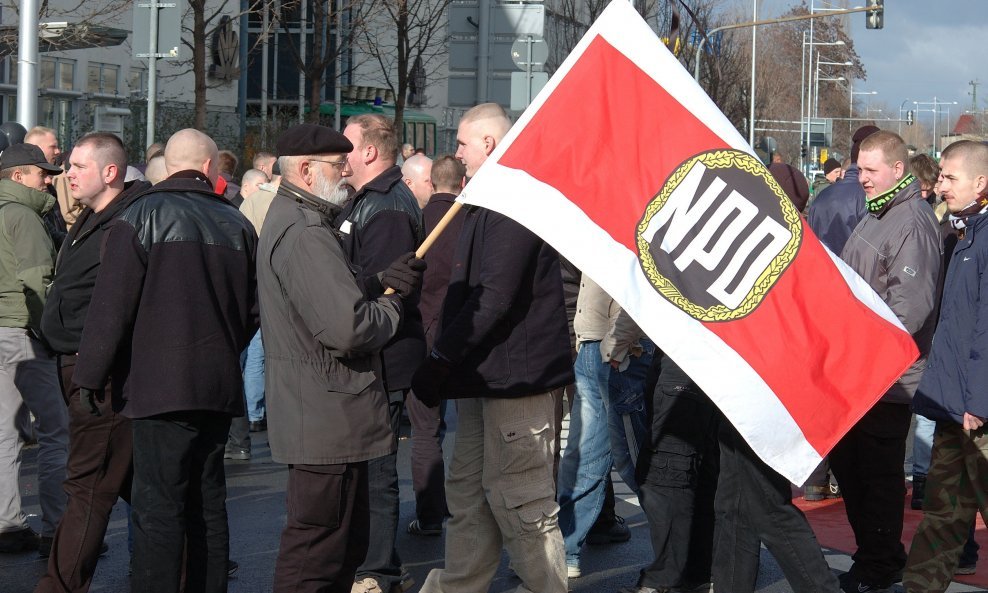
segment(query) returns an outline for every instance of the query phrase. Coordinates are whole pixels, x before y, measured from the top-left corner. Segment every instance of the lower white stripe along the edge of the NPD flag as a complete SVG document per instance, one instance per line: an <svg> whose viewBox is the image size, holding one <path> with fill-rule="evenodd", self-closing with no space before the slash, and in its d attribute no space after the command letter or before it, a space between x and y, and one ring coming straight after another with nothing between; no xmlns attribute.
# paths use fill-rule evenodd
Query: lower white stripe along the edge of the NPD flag
<svg viewBox="0 0 988 593"><path fill-rule="evenodd" d="M737 352L655 291L637 254L557 189L528 173L497 163L485 164L483 172L484 182L475 184L469 197L461 196L464 202L510 216L557 250L565 246L567 259L608 287L614 300L696 381L765 463L793 483L806 481L822 457L789 411ZM758 405L752 405L753 398Z"/></svg>

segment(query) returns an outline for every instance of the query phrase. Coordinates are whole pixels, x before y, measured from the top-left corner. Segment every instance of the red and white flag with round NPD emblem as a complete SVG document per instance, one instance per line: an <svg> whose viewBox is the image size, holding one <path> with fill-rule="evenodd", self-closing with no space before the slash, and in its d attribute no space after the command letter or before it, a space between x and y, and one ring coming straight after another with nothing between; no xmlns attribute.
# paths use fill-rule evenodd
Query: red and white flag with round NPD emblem
<svg viewBox="0 0 988 593"><path fill-rule="evenodd" d="M917 357L627 0L460 200L596 280L795 483Z"/></svg>

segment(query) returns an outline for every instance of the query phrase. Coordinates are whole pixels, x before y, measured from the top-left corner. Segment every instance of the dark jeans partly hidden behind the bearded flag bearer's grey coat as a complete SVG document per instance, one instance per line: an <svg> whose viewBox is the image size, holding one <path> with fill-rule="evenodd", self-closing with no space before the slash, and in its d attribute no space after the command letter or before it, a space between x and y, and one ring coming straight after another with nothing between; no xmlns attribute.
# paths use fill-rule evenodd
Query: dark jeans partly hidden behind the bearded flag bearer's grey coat
<svg viewBox="0 0 988 593"><path fill-rule="evenodd" d="M388 394L391 430L395 445L405 392ZM357 569L356 578L374 577L385 591L401 581L401 558L395 549L398 536L398 453L371 459L367 462L367 490L370 501L370 526L367 539L367 557Z"/></svg>

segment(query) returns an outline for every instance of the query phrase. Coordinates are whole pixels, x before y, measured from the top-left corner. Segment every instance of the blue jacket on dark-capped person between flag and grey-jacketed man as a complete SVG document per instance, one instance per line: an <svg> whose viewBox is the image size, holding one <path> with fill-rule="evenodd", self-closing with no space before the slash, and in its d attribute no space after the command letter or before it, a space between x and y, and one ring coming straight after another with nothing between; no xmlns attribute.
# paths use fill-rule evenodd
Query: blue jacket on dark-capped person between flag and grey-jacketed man
<svg viewBox="0 0 988 593"><path fill-rule="evenodd" d="M810 204L810 228L828 249L840 255L865 212L858 167L851 165L843 179L820 192Z"/></svg>

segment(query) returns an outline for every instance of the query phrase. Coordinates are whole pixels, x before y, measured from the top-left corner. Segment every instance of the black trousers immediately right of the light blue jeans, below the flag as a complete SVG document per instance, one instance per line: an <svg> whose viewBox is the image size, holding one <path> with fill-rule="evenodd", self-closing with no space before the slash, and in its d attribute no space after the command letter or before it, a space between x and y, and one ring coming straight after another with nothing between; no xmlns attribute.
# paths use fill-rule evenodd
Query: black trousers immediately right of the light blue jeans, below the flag
<svg viewBox="0 0 988 593"><path fill-rule="evenodd" d="M638 460L639 493L655 560L638 584L655 589L710 581L719 413L686 385L653 390L650 440Z"/></svg>

